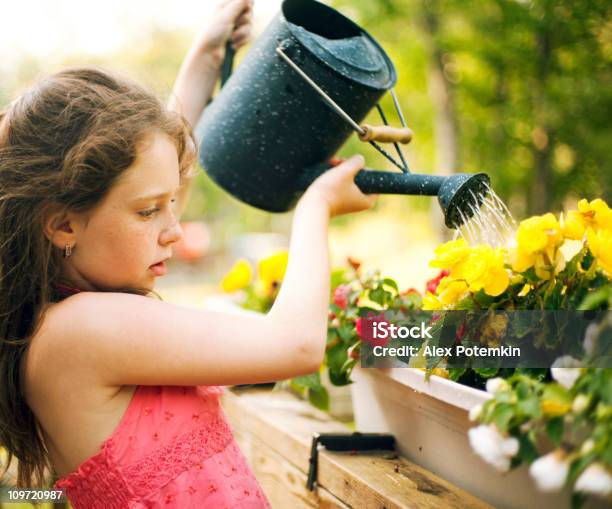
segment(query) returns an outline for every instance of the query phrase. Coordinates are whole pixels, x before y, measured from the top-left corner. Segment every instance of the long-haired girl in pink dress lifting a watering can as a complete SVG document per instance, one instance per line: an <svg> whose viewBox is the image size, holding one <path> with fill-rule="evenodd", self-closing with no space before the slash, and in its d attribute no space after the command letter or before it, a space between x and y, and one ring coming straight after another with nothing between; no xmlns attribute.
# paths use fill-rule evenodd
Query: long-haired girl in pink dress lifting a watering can
<svg viewBox="0 0 612 509"><path fill-rule="evenodd" d="M250 17L247 0L220 5L169 108L81 68L0 114L0 446L18 459L19 487L54 481L75 509L269 507L219 407L221 386L318 369L329 219L376 197L354 184L361 156L310 186L265 315L150 298L181 238L190 125L226 40L244 44Z"/></svg>

